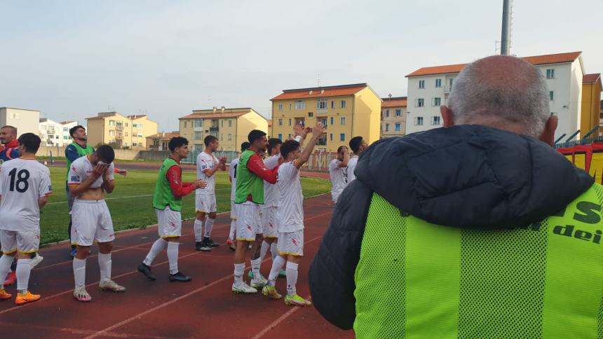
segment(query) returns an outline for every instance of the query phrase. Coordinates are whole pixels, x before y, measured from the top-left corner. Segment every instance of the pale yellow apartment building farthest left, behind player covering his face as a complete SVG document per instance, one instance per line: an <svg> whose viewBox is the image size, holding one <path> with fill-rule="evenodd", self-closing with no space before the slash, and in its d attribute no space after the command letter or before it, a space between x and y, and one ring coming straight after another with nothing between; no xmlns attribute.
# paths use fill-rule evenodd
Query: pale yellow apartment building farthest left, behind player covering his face
<svg viewBox="0 0 603 339"><path fill-rule="evenodd" d="M157 123L147 116L123 116L118 112L102 112L86 118L88 144L109 144L114 148L134 150L147 148L147 137L157 133Z"/></svg>

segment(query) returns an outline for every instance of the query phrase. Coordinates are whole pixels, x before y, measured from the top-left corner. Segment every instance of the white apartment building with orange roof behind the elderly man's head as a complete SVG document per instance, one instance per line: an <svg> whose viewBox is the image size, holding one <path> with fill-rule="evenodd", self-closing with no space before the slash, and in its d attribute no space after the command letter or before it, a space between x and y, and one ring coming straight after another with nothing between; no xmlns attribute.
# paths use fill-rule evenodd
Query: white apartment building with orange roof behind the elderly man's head
<svg viewBox="0 0 603 339"><path fill-rule="evenodd" d="M555 139L565 141L580 129L582 53L538 55L522 59L534 64L547 79L550 113L559 117ZM408 78L407 134L442 126L440 105L447 105L454 78L466 64L452 64L417 69ZM579 134L572 139L580 137Z"/></svg>

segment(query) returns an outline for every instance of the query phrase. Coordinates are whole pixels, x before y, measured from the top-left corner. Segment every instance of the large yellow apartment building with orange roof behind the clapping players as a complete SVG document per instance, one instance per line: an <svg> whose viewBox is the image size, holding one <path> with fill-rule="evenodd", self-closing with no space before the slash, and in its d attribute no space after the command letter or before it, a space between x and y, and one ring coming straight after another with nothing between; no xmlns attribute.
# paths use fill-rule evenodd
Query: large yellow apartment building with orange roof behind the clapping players
<svg viewBox="0 0 603 339"><path fill-rule="evenodd" d="M368 144L379 140L381 98L366 83L283 90L271 101L272 137L285 140L294 124L313 127L320 121L327 132L317 151L337 152L356 136Z"/></svg>

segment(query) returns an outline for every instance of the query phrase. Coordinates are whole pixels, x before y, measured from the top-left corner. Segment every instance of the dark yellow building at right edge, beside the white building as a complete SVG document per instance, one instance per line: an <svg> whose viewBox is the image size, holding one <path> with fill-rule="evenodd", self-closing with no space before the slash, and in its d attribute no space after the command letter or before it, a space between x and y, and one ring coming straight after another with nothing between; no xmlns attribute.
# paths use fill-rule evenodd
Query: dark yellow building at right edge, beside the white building
<svg viewBox="0 0 603 339"><path fill-rule="evenodd" d="M580 136L583 137L592 128L599 126L601 119L601 74L585 74L582 77L582 110L580 116ZM598 137L599 130L590 134Z"/></svg>

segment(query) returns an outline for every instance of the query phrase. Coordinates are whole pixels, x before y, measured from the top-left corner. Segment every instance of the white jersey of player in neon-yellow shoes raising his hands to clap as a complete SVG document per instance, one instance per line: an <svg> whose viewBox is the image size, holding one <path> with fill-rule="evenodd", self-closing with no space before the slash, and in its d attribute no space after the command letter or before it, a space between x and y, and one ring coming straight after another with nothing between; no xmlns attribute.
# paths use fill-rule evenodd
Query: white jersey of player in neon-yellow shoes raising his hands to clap
<svg viewBox="0 0 603 339"><path fill-rule="evenodd" d="M304 229L304 194L299 170L293 161L278 167L278 185L280 205L276 211L278 232L295 232Z"/></svg>

